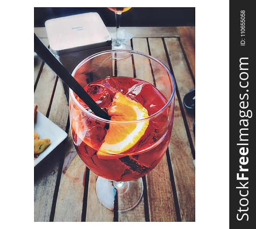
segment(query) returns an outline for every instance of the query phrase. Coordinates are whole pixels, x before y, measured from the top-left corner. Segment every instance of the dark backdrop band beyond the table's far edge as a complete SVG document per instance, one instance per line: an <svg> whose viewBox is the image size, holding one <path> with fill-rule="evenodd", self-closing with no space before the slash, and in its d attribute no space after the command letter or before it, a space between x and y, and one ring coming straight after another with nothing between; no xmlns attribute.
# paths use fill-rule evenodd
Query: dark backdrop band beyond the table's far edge
<svg viewBox="0 0 256 229"><path fill-rule="evenodd" d="M99 13L105 26L115 26L114 12L103 7L36 7L34 8L34 27L44 27L48 19L88 12ZM134 7L122 14L121 26L195 26L195 8Z"/></svg>

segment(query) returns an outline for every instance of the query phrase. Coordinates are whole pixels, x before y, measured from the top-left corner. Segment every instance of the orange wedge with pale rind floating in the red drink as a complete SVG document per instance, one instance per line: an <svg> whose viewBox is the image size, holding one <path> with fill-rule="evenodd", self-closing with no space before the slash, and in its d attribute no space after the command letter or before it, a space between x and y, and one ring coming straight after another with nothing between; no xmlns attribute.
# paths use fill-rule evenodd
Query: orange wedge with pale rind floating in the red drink
<svg viewBox="0 0 256 229"><path fill-rule="evenodd" d="M111 121L135 121L148 117L147 109L140 103L117 92L109 106L108 113ZM105 140L97 155L102 159L117 158L120 153L133 147L145 133L149 121L137 123L116 124L110 123Z"/></svg>

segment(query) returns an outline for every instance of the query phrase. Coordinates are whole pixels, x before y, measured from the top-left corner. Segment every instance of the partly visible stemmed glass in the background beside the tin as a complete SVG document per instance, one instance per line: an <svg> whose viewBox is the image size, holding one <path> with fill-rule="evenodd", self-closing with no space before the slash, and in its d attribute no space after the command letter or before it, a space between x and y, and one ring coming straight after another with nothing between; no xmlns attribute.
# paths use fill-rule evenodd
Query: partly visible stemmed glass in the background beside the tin
<svg viewBox="0 0 256 229"><path fill-rule="evenodd" d="M120 23L121 23L121 15L123 12L126 12L131 9L131 7L107 7L109 10L115 13L115 23L116 23L116 40L115 43L112 44L112 49L129 49L132 50L132 47L128 44L122 43L120 39L120 34L118 33Z"/></svg>

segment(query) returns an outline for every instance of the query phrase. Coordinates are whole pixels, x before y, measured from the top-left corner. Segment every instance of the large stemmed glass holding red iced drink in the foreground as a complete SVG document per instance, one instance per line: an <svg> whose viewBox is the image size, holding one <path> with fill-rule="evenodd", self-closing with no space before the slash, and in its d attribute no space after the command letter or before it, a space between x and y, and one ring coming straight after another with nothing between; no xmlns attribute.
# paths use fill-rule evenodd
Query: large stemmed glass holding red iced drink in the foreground
<svg viewBox="0 0 256 229"><path fill-rule="evenodd" d="M156 58L133 50L96 53L81 61L72 76L105 110L108 106L104 103L112 104L110 97L114 97L117 90L134 96L134 101L139 101L148 110L146 118L106 120L94 115L70 89L72 139L81 160L98 175L94 184L97 198L112 211L130 210L143 195L141 177L156 167L170 141L175 101L173 76ZM129 116L131 113L124 110L123 114ZM111 128L118 130L111 139L115 141L122 131L139 128L145 123L144 134L125 152L101 150Z"/></svg>

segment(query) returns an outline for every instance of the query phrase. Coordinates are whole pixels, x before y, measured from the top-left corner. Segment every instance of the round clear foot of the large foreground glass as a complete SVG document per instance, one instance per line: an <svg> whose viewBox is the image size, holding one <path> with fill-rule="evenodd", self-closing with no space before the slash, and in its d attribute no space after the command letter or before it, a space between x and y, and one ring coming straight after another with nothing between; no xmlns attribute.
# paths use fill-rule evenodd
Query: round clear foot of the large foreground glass
<svg viewBox="0 0 256 229"><path fill-rule="evenodd" d="M111 211L128 211L138 205L143 195L142 178L117 182L97 177L96 195L100 203Z"/></svg>

